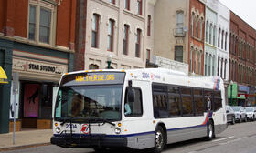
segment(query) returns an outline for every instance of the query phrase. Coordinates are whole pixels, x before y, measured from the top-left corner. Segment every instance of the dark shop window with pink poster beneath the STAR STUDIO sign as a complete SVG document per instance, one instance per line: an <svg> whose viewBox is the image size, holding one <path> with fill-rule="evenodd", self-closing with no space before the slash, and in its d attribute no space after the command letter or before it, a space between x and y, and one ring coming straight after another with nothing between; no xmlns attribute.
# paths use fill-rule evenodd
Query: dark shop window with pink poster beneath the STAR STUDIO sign
<svg viewBox="0 0 256 153"><path fill-rule="evenodd" d="M22 82L22 128L51 128L53 83Z"/></svg>

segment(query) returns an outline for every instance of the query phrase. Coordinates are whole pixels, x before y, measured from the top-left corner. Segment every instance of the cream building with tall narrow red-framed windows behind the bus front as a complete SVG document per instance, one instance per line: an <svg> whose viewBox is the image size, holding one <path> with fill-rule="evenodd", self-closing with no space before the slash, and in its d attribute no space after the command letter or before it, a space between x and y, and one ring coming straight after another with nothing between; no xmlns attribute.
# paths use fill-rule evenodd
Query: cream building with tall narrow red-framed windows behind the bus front
<svg viewBox="0 0 256 153"><path fill-rule="evenodd" d="M153 49L154 1L88 0L85 69L143 68Z"/></svg>

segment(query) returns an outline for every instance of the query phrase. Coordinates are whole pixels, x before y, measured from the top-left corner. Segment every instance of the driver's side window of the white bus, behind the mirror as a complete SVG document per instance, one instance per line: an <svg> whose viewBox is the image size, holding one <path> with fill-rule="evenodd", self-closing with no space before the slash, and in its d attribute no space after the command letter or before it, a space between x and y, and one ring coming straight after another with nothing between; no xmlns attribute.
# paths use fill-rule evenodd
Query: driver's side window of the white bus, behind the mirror
<svg viewBox="0 0 256 153"><path fill-rule="evenodd" d="M132 88L132 90L134 93L134 101L130 102L127 97L128 89L126 89L124 115L126 117L140 117L143 115L142 91L139 88Z"/></svg>

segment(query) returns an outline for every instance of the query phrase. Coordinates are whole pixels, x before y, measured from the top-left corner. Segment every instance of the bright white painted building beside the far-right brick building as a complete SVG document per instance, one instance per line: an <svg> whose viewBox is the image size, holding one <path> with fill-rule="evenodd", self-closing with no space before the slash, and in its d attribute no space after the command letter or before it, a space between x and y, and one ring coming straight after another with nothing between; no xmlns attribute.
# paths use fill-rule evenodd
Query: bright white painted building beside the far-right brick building
<svg viewBox="0 0 256 153"><path fill-rule="evenodd" d="M229 80L229 8L219 0L206 3L205 76Z"/></svg>

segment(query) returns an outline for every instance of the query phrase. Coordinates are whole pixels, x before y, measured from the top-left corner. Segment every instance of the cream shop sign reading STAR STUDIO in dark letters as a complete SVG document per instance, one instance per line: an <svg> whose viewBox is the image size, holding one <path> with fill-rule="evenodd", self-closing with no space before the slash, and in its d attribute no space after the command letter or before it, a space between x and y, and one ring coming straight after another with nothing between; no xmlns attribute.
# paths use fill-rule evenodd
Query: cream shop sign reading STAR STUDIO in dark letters
<svg viewBox="0 0 256 153"><path fill-rule="evenodd" d="M13 69L24 72L34 72L40 74L59 75L68 72L68 66L43 62L39 60L29 60L26 58L13 58Z"/></svg>

